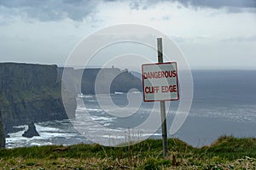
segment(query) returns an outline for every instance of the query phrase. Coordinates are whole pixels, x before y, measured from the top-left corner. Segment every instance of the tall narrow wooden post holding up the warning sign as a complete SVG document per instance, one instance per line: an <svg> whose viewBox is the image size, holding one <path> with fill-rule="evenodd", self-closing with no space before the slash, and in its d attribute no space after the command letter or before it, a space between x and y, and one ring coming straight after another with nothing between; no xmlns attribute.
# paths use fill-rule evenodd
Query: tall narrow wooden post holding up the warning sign
<svg viewBox="0 0 256 170"><path fill-rule="evenodd" d="M162 38L157 38L157 51L158 51L158 62L163 63L163 46ZM160 101L160 114L161 114L161 127L162 127L162 138L163 138L163 155L166 158L168 154L167 147L167 129L166 129L166 102Z"/></svg>

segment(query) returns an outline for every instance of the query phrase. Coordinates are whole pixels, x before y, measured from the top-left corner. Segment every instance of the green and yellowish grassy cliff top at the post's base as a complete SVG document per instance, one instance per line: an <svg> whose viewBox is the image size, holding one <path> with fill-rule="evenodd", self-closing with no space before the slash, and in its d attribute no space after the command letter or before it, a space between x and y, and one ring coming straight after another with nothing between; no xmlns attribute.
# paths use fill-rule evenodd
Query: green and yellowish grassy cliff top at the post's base
<svg viewBox="0 0 256 170"><path fill-rule="evenodd" d="M148 139L127 147L98 144L34 146L0 150L6 169L256 169L256 139L220 137L210 146L194 148L169 139L162 158L161 140Z"/></svg>

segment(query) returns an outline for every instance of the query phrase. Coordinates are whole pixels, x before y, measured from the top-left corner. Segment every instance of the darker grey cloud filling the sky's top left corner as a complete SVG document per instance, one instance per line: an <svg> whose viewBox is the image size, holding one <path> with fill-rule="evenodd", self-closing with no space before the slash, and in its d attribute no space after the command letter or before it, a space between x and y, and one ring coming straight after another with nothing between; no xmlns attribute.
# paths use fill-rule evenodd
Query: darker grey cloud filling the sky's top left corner
<svg viewBox="0 0 256 170"><path fill-rule="evenodd" d="M99 1L93 0L0 0L0 7L10 11L19 10L20 14L41 21L64 18L83 20L88 14L95 12L98 3Z"/></svg>

